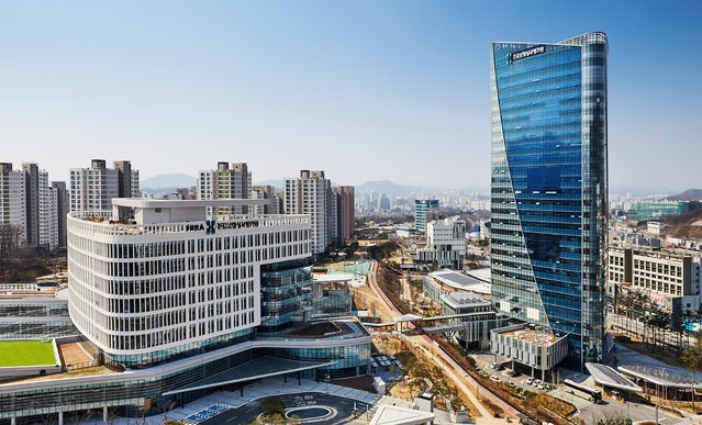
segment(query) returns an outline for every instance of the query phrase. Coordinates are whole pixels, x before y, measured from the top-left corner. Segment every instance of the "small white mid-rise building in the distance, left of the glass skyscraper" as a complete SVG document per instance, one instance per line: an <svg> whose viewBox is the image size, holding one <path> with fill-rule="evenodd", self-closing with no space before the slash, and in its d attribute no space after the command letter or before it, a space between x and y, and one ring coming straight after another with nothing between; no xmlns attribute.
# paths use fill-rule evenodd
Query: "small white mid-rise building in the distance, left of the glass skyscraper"
<svg viewBox="0 0 702 425"><path fill-rule="evenodd" d="M417 262L438 268L463 268L466 258L466 222L458 216L426 223L426 246L416 251Z"/></svg>

